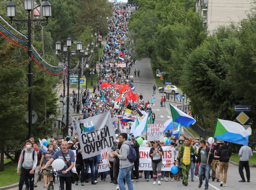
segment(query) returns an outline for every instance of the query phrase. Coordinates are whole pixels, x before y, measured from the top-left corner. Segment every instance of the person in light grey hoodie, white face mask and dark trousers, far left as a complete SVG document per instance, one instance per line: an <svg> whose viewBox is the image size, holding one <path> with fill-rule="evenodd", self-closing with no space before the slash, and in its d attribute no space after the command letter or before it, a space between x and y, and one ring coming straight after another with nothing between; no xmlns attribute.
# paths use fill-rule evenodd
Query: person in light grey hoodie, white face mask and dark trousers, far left
<svg viewBox="0 0 256 190"><path fill-rule="evenodd" d="M20 166L21 174L20 174L20 182L19 182L19 190L22 190L24 182L26 179L29 179L30 189L34 189L34 177L35 177L35 169L37 165L37 154L34 148L32 147L32 142L27 140L26 148L21 151L20 160L17 167L17 175L20 174Z"/></svg>

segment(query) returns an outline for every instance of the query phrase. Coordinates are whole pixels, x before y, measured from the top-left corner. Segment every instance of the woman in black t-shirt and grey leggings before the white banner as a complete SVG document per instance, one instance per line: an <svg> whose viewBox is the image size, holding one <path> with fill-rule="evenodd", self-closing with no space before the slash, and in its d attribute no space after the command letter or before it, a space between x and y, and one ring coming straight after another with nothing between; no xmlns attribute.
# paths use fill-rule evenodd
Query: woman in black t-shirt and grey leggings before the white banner
<svg viewBox="0 0 256 190"><path fill-rule="evenodd" d="M156 185L156 178L158 178L158 185L161 185L161 169L162 169L162 156L163 148L159 145L159 141L155 141L154 146L150 148L149 157L151 157L151 165L153 169L153 185Z"/></svg>

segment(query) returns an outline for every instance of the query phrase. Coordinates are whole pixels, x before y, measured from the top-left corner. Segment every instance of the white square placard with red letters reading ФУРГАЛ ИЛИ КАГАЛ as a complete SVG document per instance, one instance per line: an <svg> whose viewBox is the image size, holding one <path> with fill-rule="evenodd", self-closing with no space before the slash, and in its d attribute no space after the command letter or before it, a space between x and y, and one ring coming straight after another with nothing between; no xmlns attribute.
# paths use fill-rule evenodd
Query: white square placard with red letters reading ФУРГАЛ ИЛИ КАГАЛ
<svg viewBox="0 0 256 190"><path fill-rule="evenodd" d="M148 141L164 140L164 124L148 124Z"/></svg>

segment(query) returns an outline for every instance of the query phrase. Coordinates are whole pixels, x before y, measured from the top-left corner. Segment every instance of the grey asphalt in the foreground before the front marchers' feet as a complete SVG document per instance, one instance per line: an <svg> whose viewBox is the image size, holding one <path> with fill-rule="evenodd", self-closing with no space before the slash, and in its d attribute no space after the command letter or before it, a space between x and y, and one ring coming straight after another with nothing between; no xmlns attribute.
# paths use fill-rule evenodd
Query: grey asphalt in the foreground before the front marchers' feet
<svg viewBox="0 0 256 190"><path fill-rule="evenodd" d="M232 166L229 165L228 168L228 178L227 178L227 186L226 187L220 187L220 183L216 182L216 181L209 181L209 189L216 189L216 190L251 190L251 189L255 189L256 186L256 181L255 176L256 176L256 168L251 168L251 182L250 183L240 183L238 182L238 180L240 180L240 176L238 173L238 167L236 166ZM42 179L43 180L43 179ZM140 178L139 182L133 182L133 189L134 190L149 190L149 189L179 189L179 190L190 190L190 189L199 189L198 188L198 184L199 184L199 179L197 177L194 177L193 182L191 182L191 179L188 179L188 186L185 187L182 185L181 181L161 181L162 185L156 185L153 186L153 179L149 179L149 182L144 181L144 178ZM57 182L57 181L56 181ZM37 184L38 186L35 188L35 190L46 190L46 188L44 188L44 182L39 182ZM18 187L14 188L14 189L18 189ZM25 186L24 188L25 189ZM54 186L54 189L59 189L58 184L56 183ZM91 185L91 183L85 183L85 186L81 186L81 183L79 183L78 186L72 185L72 189L73 190L79 190L79 189L93 189L93 190L114 190L116 189L116 185L113 183L110 183L110 177L109 175L107 176L107 180L106 181L101 181L98 178L98 184L97 185ZM126 186L127 189L127 186ZM204 182L203 185L200 189L204 189Z"/></svg>

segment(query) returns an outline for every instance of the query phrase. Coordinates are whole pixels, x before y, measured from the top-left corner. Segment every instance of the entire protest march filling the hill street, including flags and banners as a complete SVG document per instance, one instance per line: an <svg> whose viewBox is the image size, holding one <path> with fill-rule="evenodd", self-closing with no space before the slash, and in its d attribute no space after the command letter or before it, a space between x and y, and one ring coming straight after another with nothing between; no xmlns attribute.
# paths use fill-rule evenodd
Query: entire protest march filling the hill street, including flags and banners
<svg viewBox="0 0 256 190"><path fill-rule="evenodd" d="M109 177L110 183L115 184L113 189L122 190L124 181L130 190L132 182L142 178L152 185L180 181L180 185L189 186L194 176L198 176L199 188L204 181L204 188L208 189L209 179L226 186L231 156L228 143L248 145L251 128L217 119L209 139L187 138L185 127L194 125L196 120L171 103L167 105L171 118L158 123L152 112L156 98L144 101L140 89L133 85L136 74L131 73L131 67L136 62L125 45L131 41L128 38L130 16L126 4L114 4L100 57L97 89L94 93L84 91L82 115L74 119L74 130L69 128L70 135L65 139L39 139L41 157L37 169L44 170L47 176L44 187L51 180L47 168L60 171L57 173L58 183L62 184L60 189L65 180L67 187L71 178L75 185L84 186L89 182L96 185L99 179L106 181ZM26 142L25 157L30 143L31 140ZM56 169L61 164L63 168Z"/></svg>

